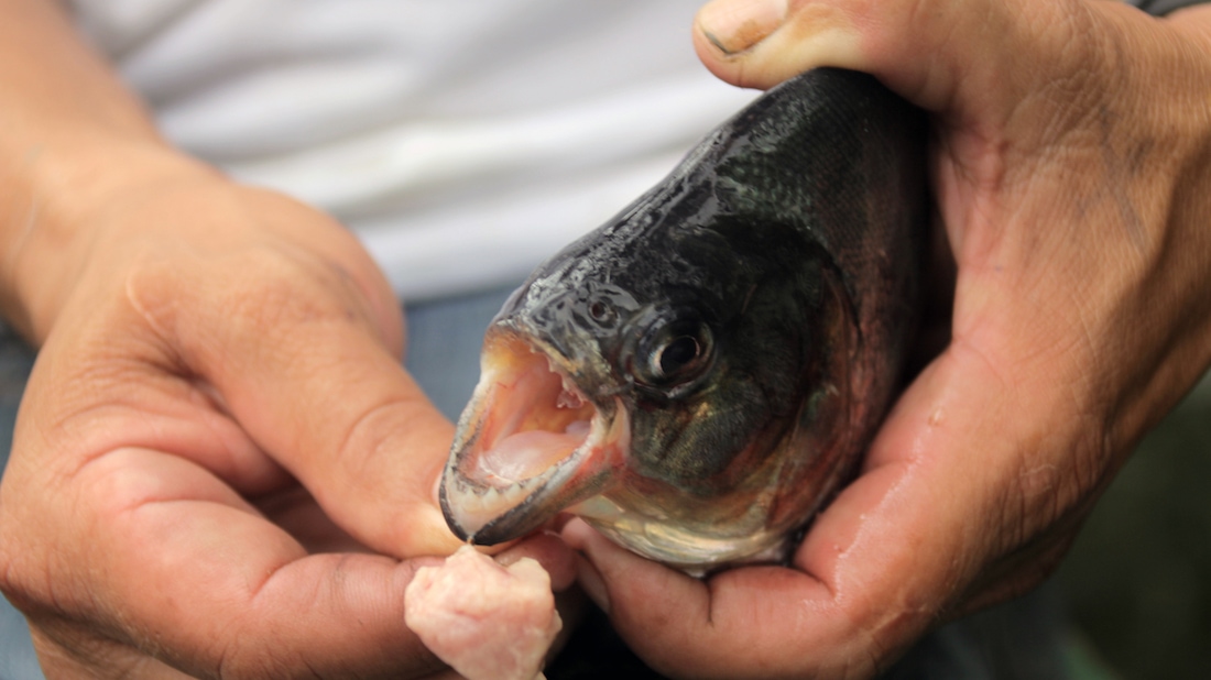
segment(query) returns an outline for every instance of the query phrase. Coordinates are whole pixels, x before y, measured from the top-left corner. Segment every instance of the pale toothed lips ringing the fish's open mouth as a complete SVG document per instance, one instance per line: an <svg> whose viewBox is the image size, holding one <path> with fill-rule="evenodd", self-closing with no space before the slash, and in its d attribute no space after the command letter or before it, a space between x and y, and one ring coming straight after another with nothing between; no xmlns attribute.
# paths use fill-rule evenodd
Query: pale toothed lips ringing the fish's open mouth
<svg viewBox="0 0 1211 680"><path fill-rule="evenodd" d="M494 342L504 348L489 350ZM522 368L490 368L489 352L507 353L520 348L532 355L521 359ZM509 484L501 484L500 477L486 479L477 466L481 465L480 457L490 449L483 448L481 437L495 405L495 392L501 390L499 380L539 370L536 362L546 364L566 392L592 407L589 433L570 453L539 474ZM475 396L459 419L438 486L438 502L455 536L470 543L490 546L524 536L566 507L602 492L610 482L612 471L621 465L631 432L630 417L619 396L586 394L572 379L572 362L524 329L509 323L494 324L486 336L483 365ZM484 515L494 517L484 519Z"/></svg>

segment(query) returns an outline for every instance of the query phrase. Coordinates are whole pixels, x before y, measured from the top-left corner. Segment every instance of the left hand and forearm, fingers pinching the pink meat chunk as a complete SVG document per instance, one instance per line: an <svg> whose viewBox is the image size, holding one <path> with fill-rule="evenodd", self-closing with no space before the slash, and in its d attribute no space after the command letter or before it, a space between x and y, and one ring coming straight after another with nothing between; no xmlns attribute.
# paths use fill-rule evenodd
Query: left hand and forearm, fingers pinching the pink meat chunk
<svg viewBox="0 0 1211 680"><path fill-rule="evenodd" d="M47 676L441 673L403 594L458 547L453 428L357 241L168 148L53 2L0 0L0 310L39 347L0 589Z"/></svg>

